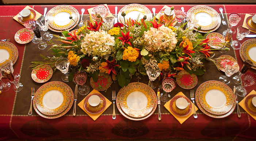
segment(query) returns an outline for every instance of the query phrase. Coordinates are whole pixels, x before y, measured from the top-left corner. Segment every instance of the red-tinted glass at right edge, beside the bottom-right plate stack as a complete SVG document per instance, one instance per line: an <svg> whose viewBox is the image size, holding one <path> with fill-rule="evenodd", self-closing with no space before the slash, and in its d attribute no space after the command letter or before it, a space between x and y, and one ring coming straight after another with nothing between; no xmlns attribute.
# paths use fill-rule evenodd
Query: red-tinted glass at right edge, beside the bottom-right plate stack
<svg viewBox="0 0 256 141"><path fill-rule="evenodd" d="M238 96L245 96L247 94L247 90L245 89L245 87L256 84L256 74L252 72L245 73L243 82L243 86L240 85L236 87L236 93Z"/></svg>

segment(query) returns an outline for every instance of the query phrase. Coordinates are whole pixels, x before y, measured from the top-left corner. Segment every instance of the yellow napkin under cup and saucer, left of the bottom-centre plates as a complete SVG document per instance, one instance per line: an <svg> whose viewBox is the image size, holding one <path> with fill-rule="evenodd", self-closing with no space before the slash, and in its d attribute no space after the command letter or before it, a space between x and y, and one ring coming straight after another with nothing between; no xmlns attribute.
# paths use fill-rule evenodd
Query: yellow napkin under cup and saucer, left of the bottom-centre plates
<svg viewBox="0 0 256 141"><path fill-rule="evenodd" d="M92 90L92 92L90 92L89 94L91 94L91 93L100 93L98 90L95 90L95 89L93 89ZM88 94L88 95L89 95ZM101 93L100 93L101 94ZM88 96L87 95L87 96ZM86 96L86 97L87 97ZM85 108L84 108L84 100L85 100L85 98L81 101L81 102L79 102L79 104L77 104L82 110L84 110L84 112L85 113L87 113L93 120L96 120L111 104L112 104L112 102L110 102L106 97L105 97L105 99L106 99L106 107L105 107L105 109L102 111L102 112L100 112L100 113L98 113L98 114L91 114L91 113L88 113L86 110L85 110Z"/></svg>

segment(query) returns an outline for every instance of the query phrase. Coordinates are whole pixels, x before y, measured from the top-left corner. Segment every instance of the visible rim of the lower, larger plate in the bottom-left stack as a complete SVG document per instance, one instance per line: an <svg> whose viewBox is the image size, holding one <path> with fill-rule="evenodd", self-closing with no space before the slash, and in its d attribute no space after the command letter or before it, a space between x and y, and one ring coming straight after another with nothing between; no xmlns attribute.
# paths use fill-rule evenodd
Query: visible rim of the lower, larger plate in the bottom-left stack
<svg viewBox="0 0 256 141"><path fill-rule="evenodd" d="M64 116L64 114L66 114L66 113L70 110L70 108L72 107L72 105L73 105L73 101L74 101L74 94L73 94L73 91L72 91L72 89L71 89L67 84L65 84L64 82L52 81L52 82L48 82L48 83L53 83L53 84L54 84L54 83L59 83L59 84L65 86L65 87L68 89L68 91L69 91L69 93L70 93L69 105L68 105L68 107L67 107L63 112L61 112L61 113L59 113L59 114L56 114L56 115L53 115L53 116L48 116L48 115L45 115L45 114L42 114L41 112L39 112L39 110L37 109L37 106L36 106L36 104L35 104L35 98L34 98L34 99L33 99L33 106L34 106L35 112L37 112L39 116L41 116L41 117L43 117L43 118L48 118L48 119L54 119L54 118L58 118L58 117Z"/></svg>

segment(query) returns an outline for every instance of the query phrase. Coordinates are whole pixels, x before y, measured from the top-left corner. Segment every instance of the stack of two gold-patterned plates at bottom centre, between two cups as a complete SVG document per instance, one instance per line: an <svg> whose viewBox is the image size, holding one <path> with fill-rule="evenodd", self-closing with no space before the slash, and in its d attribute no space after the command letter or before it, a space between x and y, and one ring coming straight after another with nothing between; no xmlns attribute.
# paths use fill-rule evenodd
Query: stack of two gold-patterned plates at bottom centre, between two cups
<svg viewBox="0 0 256 141"><path fill-rule="evenodd" d="M146 84L133 82L119 90L116 106L126 118L144 120L156 110L156 93Z"/></svg>

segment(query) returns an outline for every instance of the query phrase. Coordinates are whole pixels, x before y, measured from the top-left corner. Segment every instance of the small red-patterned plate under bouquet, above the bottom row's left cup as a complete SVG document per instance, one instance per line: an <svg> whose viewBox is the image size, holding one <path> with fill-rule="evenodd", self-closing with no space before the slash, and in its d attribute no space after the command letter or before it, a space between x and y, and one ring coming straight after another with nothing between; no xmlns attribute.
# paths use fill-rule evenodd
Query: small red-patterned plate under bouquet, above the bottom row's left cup
<svg viewBox="0 0 256 141"><path fill-rule="evenodd" d="M110 85L112 84L112 79L109 74L100 72L98 81L94 82L91 77L90 84L93 89L96 89L98 91L103 91L110 87Z"/></svg>

